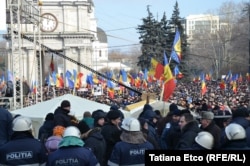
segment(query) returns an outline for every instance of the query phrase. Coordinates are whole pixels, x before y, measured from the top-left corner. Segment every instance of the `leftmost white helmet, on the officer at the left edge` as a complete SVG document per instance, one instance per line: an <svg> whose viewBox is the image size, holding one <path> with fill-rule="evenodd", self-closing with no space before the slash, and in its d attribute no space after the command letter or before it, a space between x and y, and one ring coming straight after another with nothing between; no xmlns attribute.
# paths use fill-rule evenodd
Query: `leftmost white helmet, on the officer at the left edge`
<svg viewBox="0 0 250 166"><path fill-rule="evenodd" d="M29 131L32 130L32 122L30 118L19 116L12 122L13 131Z"/></svg>

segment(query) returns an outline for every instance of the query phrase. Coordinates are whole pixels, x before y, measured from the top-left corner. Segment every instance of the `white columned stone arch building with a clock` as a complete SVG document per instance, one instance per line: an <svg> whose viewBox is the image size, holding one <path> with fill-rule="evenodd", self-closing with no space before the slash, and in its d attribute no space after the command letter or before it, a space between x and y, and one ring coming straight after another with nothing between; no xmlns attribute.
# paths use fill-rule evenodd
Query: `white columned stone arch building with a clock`
<svg viewBox="0 0 250 166"><path fill-rule="evenodd" d="M102 58L108 58L107 37L106 40L98 39L99 32L102 33L102 38L105 38L106 34L97 27L92 0L43 0L39 10L40 25L34 27L31 24L22 24L23 34L35 36L35 40L41 44L93 69L100 55ZM30 82L37 78L37 63L34 60L38 54L39 46L23 39L23 76ZM76 70L84 73L86 77L89 73L85 68L48 50L41 50L43 82L51 73L52 57L55 72L58 74L65 74L67 70L73 73L73 70Z"/></svg>

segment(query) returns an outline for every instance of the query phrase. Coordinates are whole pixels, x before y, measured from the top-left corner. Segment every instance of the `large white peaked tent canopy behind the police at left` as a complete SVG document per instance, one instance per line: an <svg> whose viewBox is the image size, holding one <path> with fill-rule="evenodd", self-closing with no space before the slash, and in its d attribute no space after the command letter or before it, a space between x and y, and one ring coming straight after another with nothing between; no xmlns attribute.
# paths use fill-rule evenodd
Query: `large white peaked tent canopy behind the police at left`
<svg viewBox="0 0 250 166"><path fill-rule="evenodd" d="M48 101L38 103L29 107L11 111L12 115L15 116L20 114L25 117L29 117L32 120L35 136L38 136L40 126L43 124L44 119L48 113L54 113L57 107L61 105L63 100L68 100L71 103L70 114L74 115L78 119L82 119L85 111L93 112L97 109L102 109L108 112L110 106L106 104L97 103L91 100L84 99L82 97L66 94L60 97L53 98ZM125 117L130 116L130 113L123 111Z"/></svg>

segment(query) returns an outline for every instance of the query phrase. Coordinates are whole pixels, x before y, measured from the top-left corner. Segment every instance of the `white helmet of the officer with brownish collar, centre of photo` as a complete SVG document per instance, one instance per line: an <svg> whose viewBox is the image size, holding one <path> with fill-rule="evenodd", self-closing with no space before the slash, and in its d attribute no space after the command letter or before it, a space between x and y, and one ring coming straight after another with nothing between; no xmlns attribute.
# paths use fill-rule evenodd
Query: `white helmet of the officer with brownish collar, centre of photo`
<svg viewBox="0 0 250 166"><path fill-rule="evenodd" d="M122 121L122 126L121 128L123 128L126 131L140 131L141 126L140 126L140 122L136 119L136 118L125 118Z"/></svg>

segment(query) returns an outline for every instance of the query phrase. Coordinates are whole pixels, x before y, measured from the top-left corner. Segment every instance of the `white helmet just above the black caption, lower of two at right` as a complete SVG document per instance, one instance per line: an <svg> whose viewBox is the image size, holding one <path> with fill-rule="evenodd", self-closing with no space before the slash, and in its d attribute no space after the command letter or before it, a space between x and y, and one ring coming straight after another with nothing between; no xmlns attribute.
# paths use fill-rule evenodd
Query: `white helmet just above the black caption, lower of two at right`
<svg viewBox="0 0 250 166"><path fill-rule="evenodd" d="M195 142L206 149L212 149L214 145L214 137L207 131L201 131L195 137Z"/></svg>

